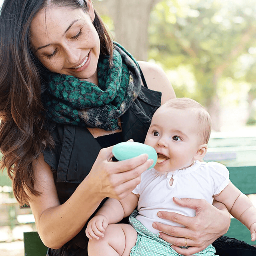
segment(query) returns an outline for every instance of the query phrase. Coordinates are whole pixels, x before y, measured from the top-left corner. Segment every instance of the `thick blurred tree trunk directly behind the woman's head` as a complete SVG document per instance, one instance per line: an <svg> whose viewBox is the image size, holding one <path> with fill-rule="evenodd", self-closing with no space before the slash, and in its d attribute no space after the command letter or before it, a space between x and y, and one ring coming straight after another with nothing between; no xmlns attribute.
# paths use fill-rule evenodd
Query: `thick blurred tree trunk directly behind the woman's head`
<svg viewBox="0 0 256 256"><path fill-rule="evenodd" d="M160 0L95 1L100 14L109 15L115 26L116 42L137 60L148 59L148 22L150 12Z"/></svg>

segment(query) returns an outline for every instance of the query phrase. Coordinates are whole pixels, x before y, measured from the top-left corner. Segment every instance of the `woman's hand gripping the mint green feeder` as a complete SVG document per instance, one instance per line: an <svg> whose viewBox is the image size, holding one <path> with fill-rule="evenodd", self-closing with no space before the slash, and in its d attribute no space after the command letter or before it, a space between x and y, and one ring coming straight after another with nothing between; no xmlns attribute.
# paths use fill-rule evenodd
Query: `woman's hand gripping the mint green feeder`
<svg viewBox="0 0 256 256"><path fill-rule="evenodd" d="M112 162L112 148L102 148L94 165L86 179L93 182L96 193L102 198L116 198L118 200L126 197L140 183L142 172L147 170L153 160L148 159L147 154Z"/></svg>

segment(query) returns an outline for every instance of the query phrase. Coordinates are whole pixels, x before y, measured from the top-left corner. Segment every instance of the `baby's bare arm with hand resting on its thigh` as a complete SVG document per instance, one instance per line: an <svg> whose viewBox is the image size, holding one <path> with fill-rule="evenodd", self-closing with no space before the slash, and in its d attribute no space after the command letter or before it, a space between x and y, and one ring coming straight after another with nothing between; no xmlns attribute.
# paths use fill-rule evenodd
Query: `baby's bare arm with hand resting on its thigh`
<svg viewBox="0 0 256 256"><path fill-rule="evenodd" d="M124 217L129 216L136 208L138 196L128 194L124 199L109 198L98 210L95 216L88 222L86 236L90 239L104 237L108 224L117 223Z"/></svg>

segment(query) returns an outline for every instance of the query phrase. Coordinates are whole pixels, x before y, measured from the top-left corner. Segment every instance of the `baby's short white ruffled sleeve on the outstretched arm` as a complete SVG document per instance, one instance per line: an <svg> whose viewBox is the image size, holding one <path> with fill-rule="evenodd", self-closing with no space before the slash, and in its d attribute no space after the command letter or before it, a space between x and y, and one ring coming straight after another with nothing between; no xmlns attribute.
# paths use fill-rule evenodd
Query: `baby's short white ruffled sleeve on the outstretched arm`
<svg viewBox="0 0 256 256"><path fill-rule="evenodd" d="M208 162L210 176L214 182L214 195L219 194L226 188L229 179L229 171L223 164L217 162Z"/></svg>

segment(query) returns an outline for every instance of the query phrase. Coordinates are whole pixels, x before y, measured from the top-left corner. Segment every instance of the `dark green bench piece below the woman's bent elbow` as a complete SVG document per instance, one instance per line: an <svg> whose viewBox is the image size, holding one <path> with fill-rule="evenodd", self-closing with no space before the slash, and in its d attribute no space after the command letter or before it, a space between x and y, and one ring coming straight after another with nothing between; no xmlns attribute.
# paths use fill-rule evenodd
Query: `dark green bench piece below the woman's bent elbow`
<svg viewBox="0 0 256 256"><path fill-rule="evenodd" d="M25 256L46 256L47 247L37 232L24 232Z"/></svg>

